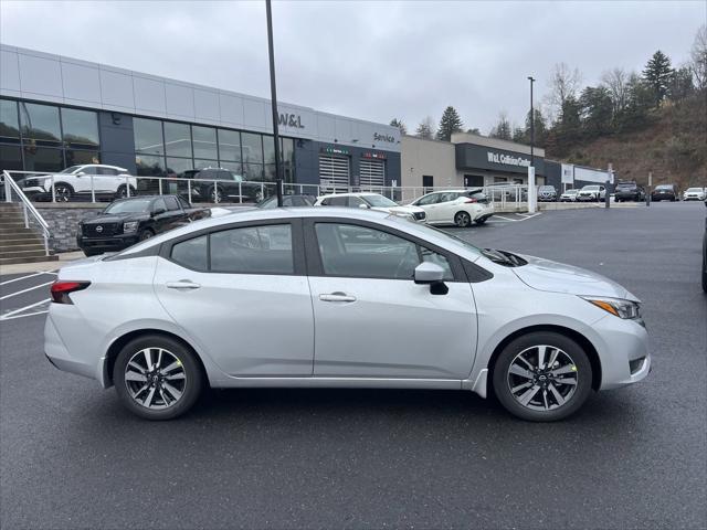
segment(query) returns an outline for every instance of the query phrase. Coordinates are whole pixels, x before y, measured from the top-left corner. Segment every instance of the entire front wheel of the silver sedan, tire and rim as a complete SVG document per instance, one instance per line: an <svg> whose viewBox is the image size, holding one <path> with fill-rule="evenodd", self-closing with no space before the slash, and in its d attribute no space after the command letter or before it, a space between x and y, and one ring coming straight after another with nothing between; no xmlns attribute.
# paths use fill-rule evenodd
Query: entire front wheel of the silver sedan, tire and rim
<svg viewBox="0 0 707 530"><path fill-rule="evenodd" d="M552 331L513 340L493 370L498 401L521 420L562 420L577 412L591 393L592 367L587 353L572 339Z"/></svg>

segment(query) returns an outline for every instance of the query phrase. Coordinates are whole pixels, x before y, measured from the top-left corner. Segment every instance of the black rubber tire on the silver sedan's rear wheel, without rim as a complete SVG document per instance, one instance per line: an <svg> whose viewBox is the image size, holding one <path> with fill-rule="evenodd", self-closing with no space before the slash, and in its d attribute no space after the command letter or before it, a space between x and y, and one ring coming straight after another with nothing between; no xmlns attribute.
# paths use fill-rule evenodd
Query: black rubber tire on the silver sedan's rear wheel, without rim
<svg viewBox="0 0 707 530"><path fill-rule="evenodd" d="M155 349L150 352L150 358L152 359L155 365L157 365L157 359L155 359L154 356L158 354L157 349L163 350L163 356L169 354L169 358L166 357L166 359L168 359L169 361L172 361L172 358L176 358L180 363L175 370L179 370L183 373L183 380L168 381L167 384L173 383L173 388L178 388L177 391L181 393L177 399L175 399L175 401L169 404L166 404L166 401L168 401L168 399L162 401L162 399L159 398L160 394L158 394L158 392L163 389L163 386L161 385L165 384L166 379L160 375L160 372L155 371L154 373L155 375L157 375L158 380L161 378L162 382L149 383L149 381L152 379L152 375L148 374L152 372L147 372L147 370L145 371L146 381L148 381L149 384L152 384L157 389L157 391L152 392L151 395L149 394L149 392L152 390L152 386L148 386L148 389L146 389L144 392L136 394L136 386L139 386L143 383L137 381L126 381L126 369L128 368L128 362L130 362L130 360L134 360L131 367L137 363L139 365L138 368L144 368L144 364L140 364L140 359L144 359L140 352L146 349ZM167 353L165 353L165 351ZM133 369L130 370L130 372L138 373ZM131 340L120 350L113 368L113 382L115 384L115 390L118 394L118 398L120 399L120 402L128 411L146 420L160 421L172 420L177 416L180 416L193 406L203 389L204 374L201 370L201 365L199 364L194 352L191 351L191 349L186 348L181 342L178 342L177 340L169 337L165 337L161 335L145 335ZM158 385L161 388L158 388ZM169 393L169 391L165 390L165 394L161 395L177 395L177 392L171 392L173 393ZM146 402L148 399L150 399L150 403L154 404L154 407L148 407L145 404L138 402L140 399L143 400L143 402ZM162 402L161 405L160 401Z"/></svg>

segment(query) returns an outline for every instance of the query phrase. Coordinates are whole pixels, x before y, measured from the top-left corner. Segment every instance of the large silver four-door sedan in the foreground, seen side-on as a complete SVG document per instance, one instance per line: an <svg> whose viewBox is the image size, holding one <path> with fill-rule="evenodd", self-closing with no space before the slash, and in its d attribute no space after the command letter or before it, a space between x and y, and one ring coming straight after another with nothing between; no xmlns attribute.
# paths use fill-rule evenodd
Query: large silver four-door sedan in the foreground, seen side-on
<svg viewBox="0 0 707 530"><path fill-rule="evenodd" d="M624 287L372 209L252 209L57 274L49 361L148 420L204 386L314 386L493 393L555 421L651 368Z"/></svg>

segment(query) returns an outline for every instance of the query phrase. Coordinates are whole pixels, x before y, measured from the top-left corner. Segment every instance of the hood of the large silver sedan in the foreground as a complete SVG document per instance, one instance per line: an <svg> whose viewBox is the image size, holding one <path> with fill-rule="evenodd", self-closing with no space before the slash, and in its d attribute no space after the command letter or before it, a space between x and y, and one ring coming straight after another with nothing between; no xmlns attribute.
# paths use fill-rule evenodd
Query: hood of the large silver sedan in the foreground
<svg viewBox="0 0 707 530"><path fill-rule="evenodd" d="M600 274L540 257L521 257L528 264L511 271L524 284L534 289L640 301L624 287Z"/></svg>

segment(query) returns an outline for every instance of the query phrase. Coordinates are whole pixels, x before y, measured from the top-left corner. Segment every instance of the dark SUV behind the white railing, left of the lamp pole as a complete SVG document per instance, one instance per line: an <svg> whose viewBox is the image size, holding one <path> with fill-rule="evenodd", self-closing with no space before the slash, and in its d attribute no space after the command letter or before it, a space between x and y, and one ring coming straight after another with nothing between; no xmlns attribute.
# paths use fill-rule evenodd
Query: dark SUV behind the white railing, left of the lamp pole
<svg viewBox="0 0 707 530"><path fill-rule="evenodd" d="M222 168L184 171L191 179L191 200L202 202L257 202L263 199L260 183L249 182L243 176Z"/></svg>

